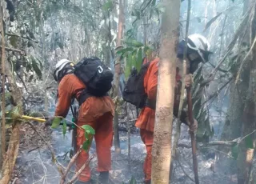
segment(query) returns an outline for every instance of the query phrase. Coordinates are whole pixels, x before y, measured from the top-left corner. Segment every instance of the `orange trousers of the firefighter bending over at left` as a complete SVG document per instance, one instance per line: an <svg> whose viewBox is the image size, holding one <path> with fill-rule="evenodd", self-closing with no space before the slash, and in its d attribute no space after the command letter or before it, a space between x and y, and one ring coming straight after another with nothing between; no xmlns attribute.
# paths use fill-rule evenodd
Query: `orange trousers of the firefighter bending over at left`
<svg viewBox="0 0 256 184"><path fill-rule="evenodd" d="M113 141L113 116L110 113L103 114L102 117L94 122L78 122L78 126L90 125L94 128L96 152L98 158L98 172L111 170L111 146ZM79 148L86 140L84 130L77 131L77 147ZM89 152L89 150L88 150ZM80 170L89 154L85 150L78 155L76 160L76 171ZM90 167L86 166L79 175L78 180L81 182L90 181Z"/></svg>

